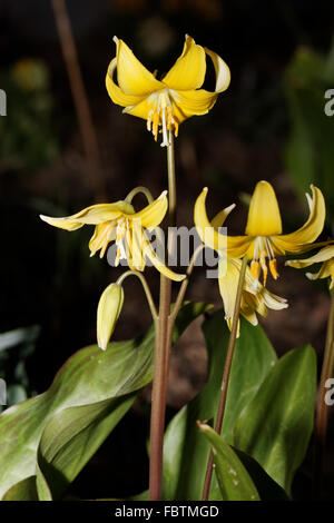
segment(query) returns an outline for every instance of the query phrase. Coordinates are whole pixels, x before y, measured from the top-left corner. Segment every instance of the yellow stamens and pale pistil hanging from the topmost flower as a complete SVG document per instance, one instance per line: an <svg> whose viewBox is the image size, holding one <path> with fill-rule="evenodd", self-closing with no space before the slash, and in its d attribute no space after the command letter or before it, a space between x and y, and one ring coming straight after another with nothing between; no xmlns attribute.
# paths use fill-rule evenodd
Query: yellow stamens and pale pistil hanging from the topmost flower
<svg viewBox="0 0 334 523"><path fill-rule="evenodd" d="M147 116L147 130L153 132L156 141L158 138L159 126L161 126L160 132L163 132L161 147L169 146L170 142L167 131L174 129L174 134L177 136L178 121L173 114L173 106L166 90L159 95L156 95L154 107L150 109Z"/></svg>

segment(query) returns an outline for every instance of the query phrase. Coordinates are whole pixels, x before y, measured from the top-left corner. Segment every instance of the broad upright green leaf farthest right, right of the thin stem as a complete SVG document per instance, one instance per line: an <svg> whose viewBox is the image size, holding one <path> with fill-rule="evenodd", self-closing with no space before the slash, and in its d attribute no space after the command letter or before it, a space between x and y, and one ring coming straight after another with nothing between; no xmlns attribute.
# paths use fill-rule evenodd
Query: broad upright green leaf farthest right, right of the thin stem
<svg viewBox="0 0 334 523"><path fill-rule="evenodd" d="M316 357L311 346L285 354L235 425L235 446L289 494L313 427Z"/></svg>

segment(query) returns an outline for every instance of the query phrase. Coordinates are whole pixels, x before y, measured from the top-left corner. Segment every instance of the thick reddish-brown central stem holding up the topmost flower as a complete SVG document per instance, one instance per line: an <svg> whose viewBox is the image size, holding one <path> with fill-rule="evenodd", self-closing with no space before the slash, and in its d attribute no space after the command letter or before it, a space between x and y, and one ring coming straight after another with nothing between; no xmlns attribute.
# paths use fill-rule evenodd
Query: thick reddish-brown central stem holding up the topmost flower
<svg viewBox="0 0 334 523"><path fill-rule="evenodd" d="M169 131L169 146L167 147L168 164L168 193L169 193L169 227L176 225L176 184L174 137ZM168 233L168 245L169 240ZM171 244L173 245L173 244ZM154 359L154 382L150 413L150 450L149 450L149 500L161 500L163 487L163 446L166 412L166 395L168 379L168 362L171 345L169 335L171 282L160 275L159 315L156 323L156 342Z"/></svg>

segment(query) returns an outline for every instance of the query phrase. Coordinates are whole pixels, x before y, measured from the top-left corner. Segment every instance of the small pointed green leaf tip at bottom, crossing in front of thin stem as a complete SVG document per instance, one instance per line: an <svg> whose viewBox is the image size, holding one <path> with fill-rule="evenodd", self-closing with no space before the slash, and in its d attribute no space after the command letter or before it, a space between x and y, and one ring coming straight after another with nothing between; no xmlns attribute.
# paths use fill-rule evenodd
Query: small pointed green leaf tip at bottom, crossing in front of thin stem
<svg viewBox="0 0 334 523"><path fill-rule="evenodd" d="M252 477L233 448L212 427L199 425L210 444L223 501L259 501Z"/></svg>

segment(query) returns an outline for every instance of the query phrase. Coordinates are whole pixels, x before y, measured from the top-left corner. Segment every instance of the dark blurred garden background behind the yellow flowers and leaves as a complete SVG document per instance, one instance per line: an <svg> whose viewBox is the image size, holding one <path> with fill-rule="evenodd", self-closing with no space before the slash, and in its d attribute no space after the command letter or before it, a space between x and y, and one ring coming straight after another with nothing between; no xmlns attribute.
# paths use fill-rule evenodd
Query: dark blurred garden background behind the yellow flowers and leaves
<svg viewBox="0 0 334 523"><path fill-rule="evenodd" d="M243 234L249 194L266 179L275 187L285 231L306 220L304 194L314 182L327 203L324 238L333 234L334 117L324 114L324 93L334 89L333 3L68 0L75 47L68 39L61 46L57 31L55 13L63 16L62 3L0 0L0 89L7 93L7 116L0 116L0 376L9 385L9 404L43 392L75 351L96 343L99 296L122 270L89 257L88 227L68 234L42 223L39 214L66 216L97 201L124 199L137 185L157 197L167 185L166 151L144 120L121 115L107 95L114 34L159 75L180 55L185 33L218 52L230 68L228 90L208 115L183 124L176 140L179 225L193 226L195 199L208 186L212 215L236 203L227 225L230 234ZM208 88L213 80L209 71ZM145 201L138 196L135 205ZM279 355L312 343L321 363L327 283L311 284L303 272L283 269L283 262L278 268L281 278L271 279L268 287L286 297L289 308L261 323ZM148 278L158 289L153 269ZM150 323L138 282L128 279L125 293L115 339L134 337ZM222 306L216 282L206 280L199 268L187 297ZM171 358L168 416L205 379L204 338L195 322ZM70 495L124 496L147 487L148 401L149 389L78 476ZM333 435L332 423L327 497L334 485ZM310 460L295 482L298 499L308 495Z"/></svg>

